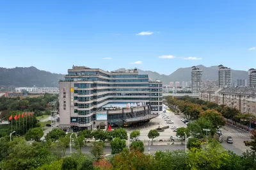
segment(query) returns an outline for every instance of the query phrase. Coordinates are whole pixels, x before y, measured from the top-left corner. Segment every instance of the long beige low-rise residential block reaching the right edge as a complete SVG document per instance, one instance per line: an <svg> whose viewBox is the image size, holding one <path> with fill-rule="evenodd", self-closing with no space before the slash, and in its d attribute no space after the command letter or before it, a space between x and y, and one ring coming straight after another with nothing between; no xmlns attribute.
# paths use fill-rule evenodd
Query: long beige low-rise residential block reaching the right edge
<svg viewBox="0 0 256 170"><path fill-rule="evenodd" d="M234 107L256 116L256 89L246 87L223 88L218 92L218 104Z"/></svg>

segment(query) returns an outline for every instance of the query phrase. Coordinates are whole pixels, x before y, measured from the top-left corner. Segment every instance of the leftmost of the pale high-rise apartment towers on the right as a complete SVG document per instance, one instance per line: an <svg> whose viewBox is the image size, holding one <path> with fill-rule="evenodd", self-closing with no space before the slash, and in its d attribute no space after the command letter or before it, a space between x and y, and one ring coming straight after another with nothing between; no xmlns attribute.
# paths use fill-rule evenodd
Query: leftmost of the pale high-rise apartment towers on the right
<svg viewBox="0 0 256 170"><path fill-rule="evenodd" d="M203 70L193 66L191 70L191 82L192 93L199 94L200 89L202 89L203 86Z"/></svg>

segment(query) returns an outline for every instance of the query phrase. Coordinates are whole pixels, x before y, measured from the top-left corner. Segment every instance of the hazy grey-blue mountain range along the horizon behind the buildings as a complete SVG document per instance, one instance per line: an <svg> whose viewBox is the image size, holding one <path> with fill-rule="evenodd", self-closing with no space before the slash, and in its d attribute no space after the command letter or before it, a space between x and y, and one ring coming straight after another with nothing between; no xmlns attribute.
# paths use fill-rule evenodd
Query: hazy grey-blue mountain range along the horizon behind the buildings
<svg viewBox="0 0 256 170"><path fill-rule="evenodd" d="M218 66L206 67L204 65L198 65L197 67L203 70L204 81L218 81ZM170 84L170 82L175 81L191 81L191 67L179 68L170 75L143 70L139 70L139 74L147 74L150 79L158 79L162 81L163 84ZM15 87L57 87L60 79L64 79L63 74L38 70L34 66L0 68L0 86L12 85ZM248 79L248 72L242 70L232 70L233 82L235 82L237 79Z"/></svg>

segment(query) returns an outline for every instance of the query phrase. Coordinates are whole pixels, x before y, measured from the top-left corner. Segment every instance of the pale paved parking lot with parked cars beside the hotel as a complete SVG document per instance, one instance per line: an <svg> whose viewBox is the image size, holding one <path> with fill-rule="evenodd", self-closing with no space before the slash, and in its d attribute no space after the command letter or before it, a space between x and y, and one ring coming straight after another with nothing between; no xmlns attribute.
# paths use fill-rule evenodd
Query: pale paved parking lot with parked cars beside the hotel
<svg viewBox="0 0 256 170"><path fill-rule="evenodd" d="M182 121L180 121L180 119L182 118L179 115L174 115L173 112L167 111L166 110L166 116L169 116L169 118L173 121L173 123L166 123L166 121L163 118L163 111L159 112L159 116L157 118L154 118L153 120L151 120L149 123L145 124L145 125L141 125L140 127L131 127L131 128L127 128L127 132L130 134L132 132L132 130L140 130L140 140L141 141L147 141L148 140L148 132L152 129L156 129L158 127L187 127L187 125L185 123L183 123ZM176 132L173 132L173 129L171 128L167 128L166 130L164 130L164 132L159 132L159 137L156 138L156 140L158 139L170 139L171 136L176 135Z"/></svg>

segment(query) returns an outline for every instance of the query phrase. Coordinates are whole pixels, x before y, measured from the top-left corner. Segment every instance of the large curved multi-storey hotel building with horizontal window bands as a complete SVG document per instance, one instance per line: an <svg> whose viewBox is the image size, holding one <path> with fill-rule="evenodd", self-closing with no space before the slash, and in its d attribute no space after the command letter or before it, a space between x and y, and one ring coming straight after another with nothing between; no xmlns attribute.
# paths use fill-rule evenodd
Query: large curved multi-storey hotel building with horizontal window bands
<svg viewBox="0 0 256 170"><path fill-rule="evenodd" d="M163 110L162 82L148 81L148 75L139 75L136 68L107 72L73 66L59 85L63 129L106 129L109 124L145 123L156 117L152 113ZM140 106L127 108L127 104ZM115 111L106 110L107 105Z"/></svg>

